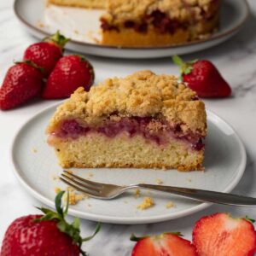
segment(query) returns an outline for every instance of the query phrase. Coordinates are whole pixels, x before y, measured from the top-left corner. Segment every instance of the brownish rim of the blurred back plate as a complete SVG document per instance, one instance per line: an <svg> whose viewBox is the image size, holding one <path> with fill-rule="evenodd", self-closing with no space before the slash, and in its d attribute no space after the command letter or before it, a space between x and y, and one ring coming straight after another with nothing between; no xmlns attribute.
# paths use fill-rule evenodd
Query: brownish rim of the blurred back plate
<svg viewBox="0 0 256 256"><path fill-rule="evenodd" d="M48 37L50 35L49 32L45 32L43 29L40 29L37 26L32 25L27 20L22 18L22 16L20 15L19 9L17 8L19 1L21 1L21 0L15 0L14 5L13 5L13 7L14 7L13 9L15 11L15 15L18 18L18 20L20 20L20 22L23 25L25 25L26 27L28 27L29 29L35 30L36 32L44 34L44 36ZM232 3L232 1L231 1L231 3ZM183 44L175 44L175 45L171 45L171 46L157 46L157 47L124 47L124 46L113 46L113 45L104 45L104 44L90 44L90 43L85 43L85 42L81 42L81 41L73 40L73 39L70 40L70 43L76 44L79 46L84 46L84 47L86 46L86 47L93 47L93 48L100 48L100 49L121 49L121 50L177 49L177 48L185 48L185 47L198 45L198 44L205 44L207 42L212 42L214 40L228 37L228 36L232 35L233 33L238 32L241 29L241 27L247 22L249 15L250 15L249 3L247 2L247 0L242 0L242 3L244 3L244 5L245 5L246 15L245 15L244 19L241 20L240 24L233 27L232 29L230 29L227 32L223 32L221 34L218 34L216 36L212 36L212 37L206 38L206 39L196 40L193 42L187 42L187 43L183 43Z"/></svg>

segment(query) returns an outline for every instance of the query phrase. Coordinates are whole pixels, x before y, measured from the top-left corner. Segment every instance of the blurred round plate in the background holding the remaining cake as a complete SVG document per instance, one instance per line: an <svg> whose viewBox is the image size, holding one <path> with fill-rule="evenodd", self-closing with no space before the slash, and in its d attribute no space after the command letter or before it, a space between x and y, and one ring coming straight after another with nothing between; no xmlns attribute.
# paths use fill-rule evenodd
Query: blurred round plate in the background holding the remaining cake
<svg viewBox="0 0 256 256"><path fill-rule="evenodd" d="M246 0L224 0L220 30L201 41L154 48L120 48L96 44L99 37L98 17L102 11L49 6L44 0L15 0L15 14L20 22L38 38L60 30L72 40L67 49L84 54L116 58L158 58L189 54L223 43L241 29L249 15Z"/></svg>

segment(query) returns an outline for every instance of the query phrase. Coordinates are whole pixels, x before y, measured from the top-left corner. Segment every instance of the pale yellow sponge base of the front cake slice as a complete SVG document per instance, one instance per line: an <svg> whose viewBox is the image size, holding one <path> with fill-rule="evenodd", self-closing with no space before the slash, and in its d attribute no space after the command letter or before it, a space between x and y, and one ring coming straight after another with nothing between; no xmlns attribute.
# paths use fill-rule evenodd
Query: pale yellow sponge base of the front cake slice
<svg viewBox="0 0 256 256"><path fill-rule="evenodd" d="M79 138L50 137L59 163L64 168L134 167L202 170L203 150L189 148L188 143L175 138L165 145L150 142L140 135L125 133L109 138L91 133Z"/></svg>

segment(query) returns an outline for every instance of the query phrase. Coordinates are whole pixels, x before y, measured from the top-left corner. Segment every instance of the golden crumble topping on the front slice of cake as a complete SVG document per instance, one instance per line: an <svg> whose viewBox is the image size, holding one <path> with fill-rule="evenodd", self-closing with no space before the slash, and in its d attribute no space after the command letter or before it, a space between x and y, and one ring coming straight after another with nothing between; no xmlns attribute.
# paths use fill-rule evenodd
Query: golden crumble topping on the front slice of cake
<svg viewBox="0 0 256 256"><path fill-rule="evenodd" d="M57 108L47 132L54 132L63 119L96 125L109 116L113 119L159 116L170 125L183 124L183 131L199 131L202 136L207 133L205 105L195 91L179 83L175 76L156 75L148 70L123 79L107 79L89 92L80 87Z"/></svg>

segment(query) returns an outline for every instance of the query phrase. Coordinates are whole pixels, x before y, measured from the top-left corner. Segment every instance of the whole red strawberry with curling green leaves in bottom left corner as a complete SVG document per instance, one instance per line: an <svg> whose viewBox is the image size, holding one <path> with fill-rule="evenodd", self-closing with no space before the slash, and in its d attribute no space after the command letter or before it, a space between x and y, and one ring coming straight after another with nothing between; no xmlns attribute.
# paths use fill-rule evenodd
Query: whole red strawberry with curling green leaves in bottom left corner
<svg viewBox="0 0 256 256"><path fill-rule="evenodd" d="M61 207L61 191L55 198L57 212L41 208L44 215L28 215L10 224L3 238L1 256L79 256L83 241L90 240L100 229L97 224L93 236L81 238L79 218L67 224L67 207Z"/></svg>

